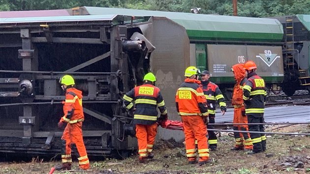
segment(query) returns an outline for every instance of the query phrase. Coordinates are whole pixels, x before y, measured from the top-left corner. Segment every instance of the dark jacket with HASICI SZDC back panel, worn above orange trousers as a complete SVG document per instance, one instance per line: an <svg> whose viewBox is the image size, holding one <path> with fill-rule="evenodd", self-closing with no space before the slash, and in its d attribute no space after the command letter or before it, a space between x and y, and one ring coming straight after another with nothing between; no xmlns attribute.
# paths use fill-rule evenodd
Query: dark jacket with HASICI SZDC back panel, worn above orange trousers
<svg viewBox="0 0 310 174"><path fill-rule="evenodd" d="M160 89L151 83L147 82L139 87L134 87L124 95L123 99L124 108L128 110L133 109L132 102L135 103L136 110L133 117L135 124L154 124L158 115L156 107L161 115L167 114Z"/></svg>

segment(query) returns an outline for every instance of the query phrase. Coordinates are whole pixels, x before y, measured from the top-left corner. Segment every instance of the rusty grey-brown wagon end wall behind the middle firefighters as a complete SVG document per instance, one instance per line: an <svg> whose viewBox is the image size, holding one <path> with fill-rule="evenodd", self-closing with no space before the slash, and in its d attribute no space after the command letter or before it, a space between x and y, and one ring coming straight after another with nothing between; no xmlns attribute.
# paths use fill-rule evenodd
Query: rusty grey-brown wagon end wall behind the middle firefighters
<svg viewBox="0 0 310 174"><path fill-rule="evenodd" d="M189 66L189 40L186 29L167 18L154 17L153 36L150 40L156 47L151 55L152 72L157 77L155 85L161 90L169 119L181 120L181 117L175 114L175 94L184 82L184 71ZM181 131L158 129L157 138L171 137L178 141L184 134Z"/></svg>

